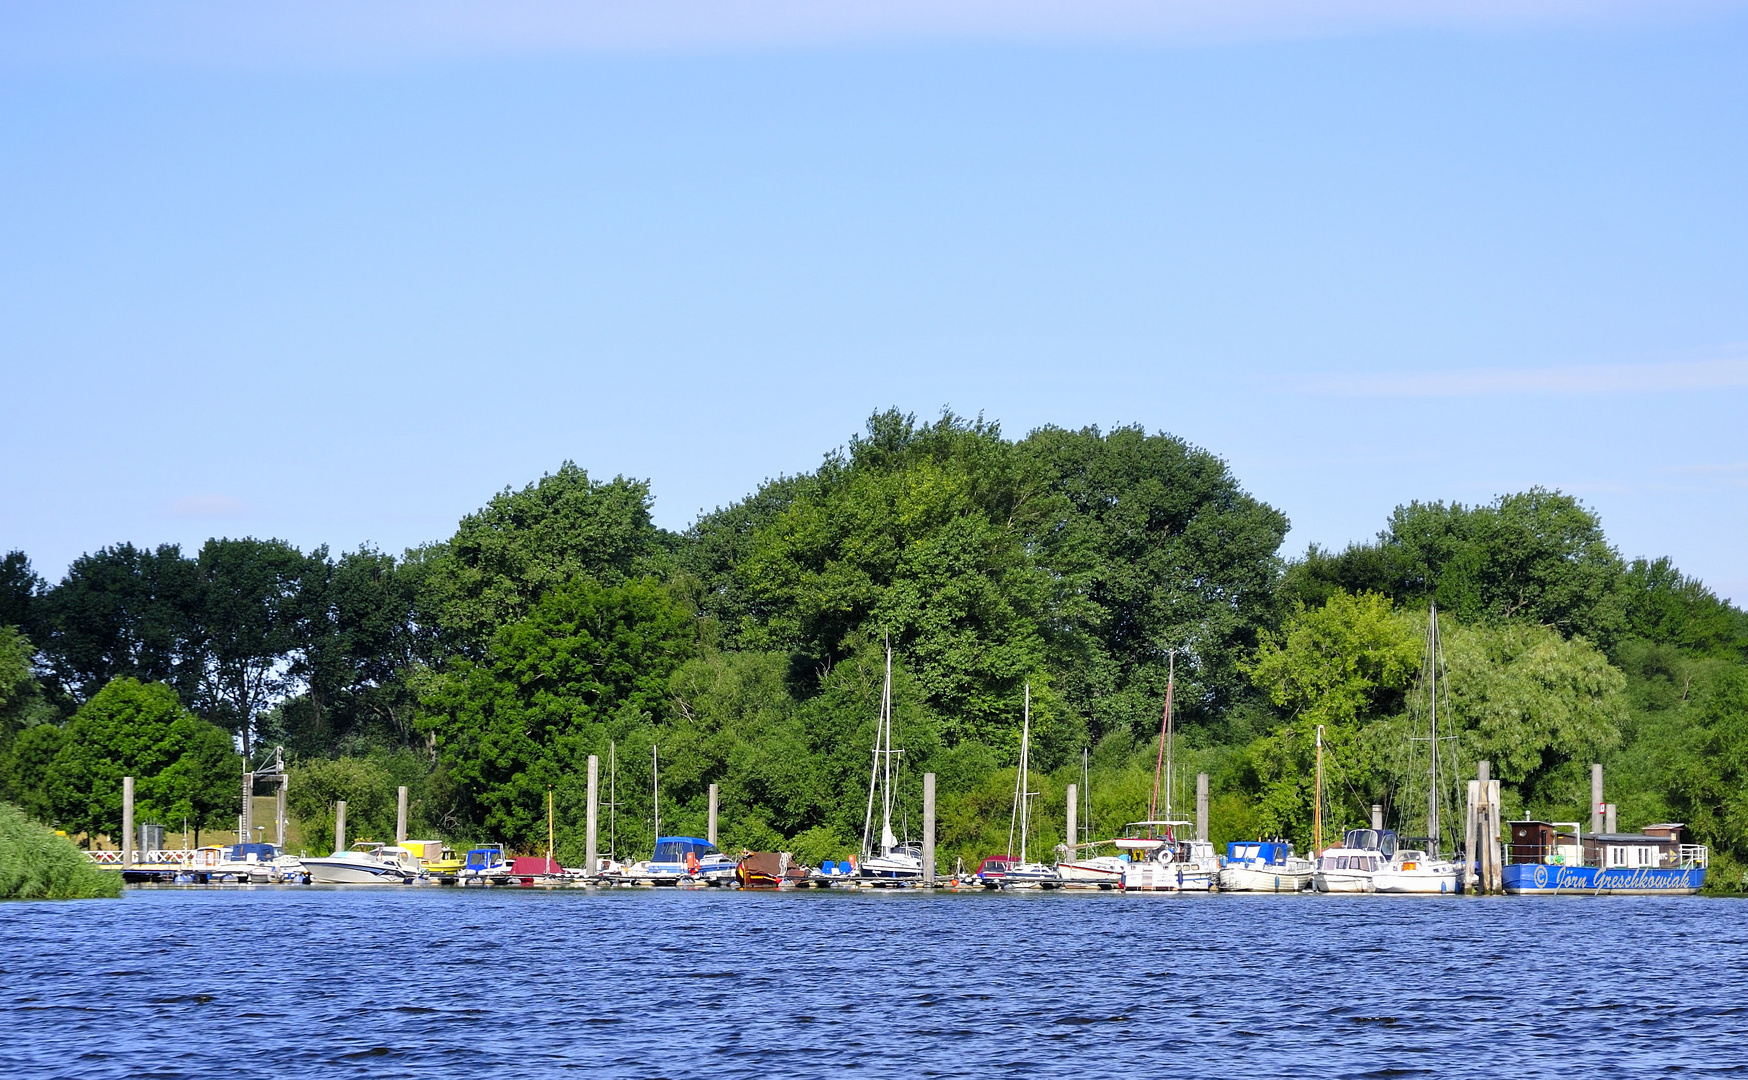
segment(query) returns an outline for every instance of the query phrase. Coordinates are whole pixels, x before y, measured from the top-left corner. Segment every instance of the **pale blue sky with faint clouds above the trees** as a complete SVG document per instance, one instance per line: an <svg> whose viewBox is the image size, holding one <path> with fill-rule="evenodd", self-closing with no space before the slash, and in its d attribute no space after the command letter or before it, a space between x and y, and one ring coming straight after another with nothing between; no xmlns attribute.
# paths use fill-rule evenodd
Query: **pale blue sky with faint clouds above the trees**
<svg viewBox="0 0 1748 1080"><path fill-rule="evenodd" d="M1748 7L1168 7L1250 14L3 10L0 549L399 550L565 460L683 528L951 405L1183 435L1290 552L1561 488L1748 599Z"/></svg>

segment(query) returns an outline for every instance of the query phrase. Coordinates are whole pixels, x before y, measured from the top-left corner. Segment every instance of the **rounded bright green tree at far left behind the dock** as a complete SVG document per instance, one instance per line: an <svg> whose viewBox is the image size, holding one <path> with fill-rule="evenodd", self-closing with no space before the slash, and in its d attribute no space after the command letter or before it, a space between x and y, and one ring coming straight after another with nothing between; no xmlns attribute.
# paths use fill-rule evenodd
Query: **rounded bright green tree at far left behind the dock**
<svg viewBox="0 0 1748 1080"><path fill-rule="evenodd" d="M232 820L241 774L231 737L175 690L117 678L68 722L42 786L56 823L94 837L121 830L122 776L135 778L136 821L203 828Z"/></svg>

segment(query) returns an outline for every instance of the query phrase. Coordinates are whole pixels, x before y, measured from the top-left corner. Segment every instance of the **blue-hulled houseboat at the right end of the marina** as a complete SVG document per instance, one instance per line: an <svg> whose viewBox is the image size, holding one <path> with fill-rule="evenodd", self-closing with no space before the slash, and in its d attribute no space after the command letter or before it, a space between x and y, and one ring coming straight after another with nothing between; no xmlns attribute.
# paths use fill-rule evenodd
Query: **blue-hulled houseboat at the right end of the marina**
<svg viewBox="0 0 1748 1080"><path fill-rule="evenodd" d="M1704 844L1683 844L1680 821L1591 835L1571 821L1507 821L1507 827L1503 869L1512 897L1685 897L1706 884L1710 851Z"/></svg>

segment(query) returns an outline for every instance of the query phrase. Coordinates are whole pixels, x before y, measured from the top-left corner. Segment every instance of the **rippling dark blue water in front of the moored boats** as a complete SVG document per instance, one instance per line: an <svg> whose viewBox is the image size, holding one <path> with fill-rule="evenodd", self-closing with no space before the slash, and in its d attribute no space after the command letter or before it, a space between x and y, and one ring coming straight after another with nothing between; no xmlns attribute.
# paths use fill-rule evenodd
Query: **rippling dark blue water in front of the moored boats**
<svg viewBox="0 0 1748 1080"><path fill-rule="evenodd" d="M1745 916L1708 898L131 890L0 907L0 1073L1741 1075Z"/></svg>

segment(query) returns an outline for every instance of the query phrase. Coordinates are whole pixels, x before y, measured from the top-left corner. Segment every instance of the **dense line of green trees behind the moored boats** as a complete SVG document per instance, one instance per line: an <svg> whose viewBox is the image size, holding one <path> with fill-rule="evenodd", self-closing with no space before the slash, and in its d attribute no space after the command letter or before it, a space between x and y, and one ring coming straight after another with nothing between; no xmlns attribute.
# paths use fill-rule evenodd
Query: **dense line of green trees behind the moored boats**
<svg viewBox="0 0 1748 1080"><path fill-rule="evenodd" d="M647 482L566 463L400 556L117 543L47 584L14 552L3 797L105 827L73 795L98 772L68 748L133 710L159 718L159 760L222 772L231 802L241 760L283 744L306 823L344 797L386 832L406 783L420 828L533 849L551 790L575 858L598 753L617 762L622 851L649 846L659 762L664 832L701 830L717 783L727 844L834 856L860 841L890 643L900 776L939 776L949 853L1007 842L1028 687L1033 844L1065 839L1082 774L1101 832L1140 816L1168 680L1176 760L1213 774L1217 832L1306 844L1318 723L1335 825L1425 806L1416 687L1437 606L1453 753L1495 760L1510 811L1570 820L1584 765L1605 760L1624 823L1685 818L1748 856L1748 617L1668 559L1622 559L1556 491L1409 503L1372 542L1287 559L1285 514L1171 435L1007 439L886 411L685 531L650 505ZM229 772L191 722L231 736ZM1178 807L1185 788L1175 776Z"/></svg>

